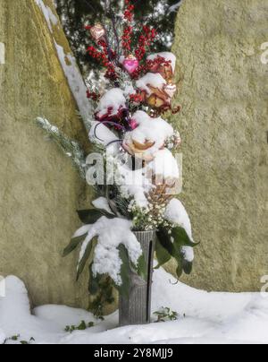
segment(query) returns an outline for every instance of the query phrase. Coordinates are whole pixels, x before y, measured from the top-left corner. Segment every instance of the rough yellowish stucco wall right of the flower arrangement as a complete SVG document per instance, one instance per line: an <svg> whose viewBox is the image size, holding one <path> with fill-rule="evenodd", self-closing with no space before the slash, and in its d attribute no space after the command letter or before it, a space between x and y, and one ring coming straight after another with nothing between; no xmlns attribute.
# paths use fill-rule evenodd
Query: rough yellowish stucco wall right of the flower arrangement
<svg viewBox="0 0 268 362"><path fill-rule="evenodd" d="M268 274L268 3L184 0L173 117L183 138L184 189L196 249L192 286L261 288Z"/></svg>

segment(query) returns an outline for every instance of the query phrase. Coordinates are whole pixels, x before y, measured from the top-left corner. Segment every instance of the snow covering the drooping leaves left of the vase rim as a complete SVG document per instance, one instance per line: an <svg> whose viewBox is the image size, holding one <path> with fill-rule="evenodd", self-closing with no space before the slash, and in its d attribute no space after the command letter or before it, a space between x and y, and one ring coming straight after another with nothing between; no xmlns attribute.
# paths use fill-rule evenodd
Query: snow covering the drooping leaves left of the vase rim
<svg viewBox="0 0 268 362"><path fill-rule="evenodd" d="M138 265L138 259L142 255L141 246L137 238L131 232L132 221L123 219L109 220L102 217L94 225L86 225L80 228L73 237L81 237L88 234L80 250L80 261L83 258L88 245L94 237L97 237L93 274L108 274L116 285L121 286L121 258L118 246L121 244L128 250L130 261Z"/></svg>

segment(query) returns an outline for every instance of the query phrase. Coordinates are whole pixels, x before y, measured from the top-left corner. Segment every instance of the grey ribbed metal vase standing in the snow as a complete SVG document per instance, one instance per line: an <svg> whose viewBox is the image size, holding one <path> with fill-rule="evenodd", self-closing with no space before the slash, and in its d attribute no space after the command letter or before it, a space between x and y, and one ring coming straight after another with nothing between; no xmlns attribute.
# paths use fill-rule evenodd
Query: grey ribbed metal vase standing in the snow
<svg viewBox="0 0 268 362"><path fill-rule="evenodd" d="M130 297L120 297L120 326L150 323L151 296L155 254L155 231L134 232L140 243L146 262L147 280L142 280L134 271L130 271Z"/></svg>

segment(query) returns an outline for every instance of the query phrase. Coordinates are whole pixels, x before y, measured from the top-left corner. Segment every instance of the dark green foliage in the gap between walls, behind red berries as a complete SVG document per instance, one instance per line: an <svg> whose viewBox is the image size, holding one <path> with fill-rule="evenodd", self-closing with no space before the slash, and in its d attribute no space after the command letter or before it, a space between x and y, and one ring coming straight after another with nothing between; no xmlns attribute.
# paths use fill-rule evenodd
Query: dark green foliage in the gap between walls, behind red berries
<svg viewBox="0 0 268 362"><path fill-rule="evenodd" d="M88 75L88 71L92 67L96 70L99 69L99 64L87 54L87 48L92 42L88 36L88 31L84 29L84 25L87 22L94 24L97 21L102 21L105 8L101 1L54 0L54 3L82 73ZM136 3L136 19L143 24L153 26L159 33L159 39L151 49L152 52L166 51L172 45L177 15L177 11L169 13L169 9L172 5L178 4L179 0L136 0L133 3ZM121 0L110 0L107 1L107 4L111 4L113 13L116 16L120 10Z"/></svg>

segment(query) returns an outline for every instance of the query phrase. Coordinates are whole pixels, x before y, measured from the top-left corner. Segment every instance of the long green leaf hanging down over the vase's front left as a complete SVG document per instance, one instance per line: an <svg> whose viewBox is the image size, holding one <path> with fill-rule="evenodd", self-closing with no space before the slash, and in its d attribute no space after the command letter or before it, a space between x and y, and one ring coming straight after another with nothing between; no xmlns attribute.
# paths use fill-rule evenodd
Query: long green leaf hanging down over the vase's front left
<svg viewBox="0 0 268 362"><path fill-rule="evenodd" d="M124 245L118 246L119 256L121 258L121 285L115 285L122 297L130 296L130 258L128 251Z"/></svg>

